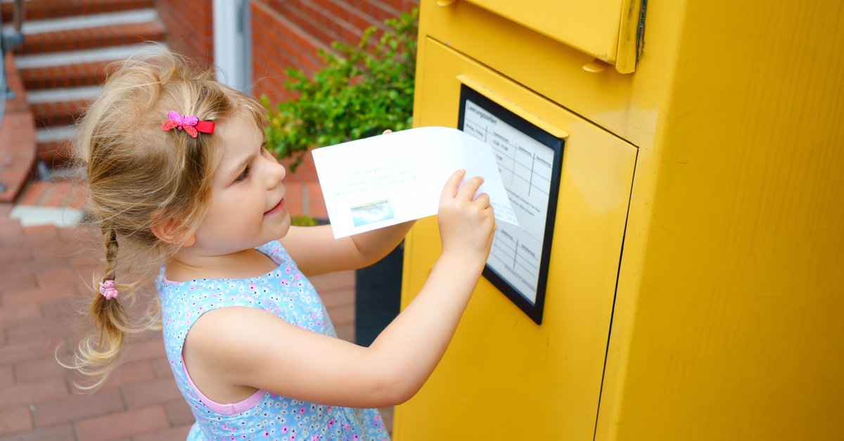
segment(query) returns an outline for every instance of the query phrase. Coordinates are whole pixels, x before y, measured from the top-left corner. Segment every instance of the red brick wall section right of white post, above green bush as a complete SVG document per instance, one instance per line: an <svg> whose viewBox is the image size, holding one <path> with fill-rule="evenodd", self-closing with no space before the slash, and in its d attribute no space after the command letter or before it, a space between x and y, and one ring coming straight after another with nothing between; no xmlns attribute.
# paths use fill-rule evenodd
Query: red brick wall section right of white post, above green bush
<svg viewBox="0 0 844 441"><path fill-rule="evenodd" d="M318 48L356 43L371 25L418 6L418 0L252 0L252 94L271 102L288 96L287 67L313 71Z"/></svg>

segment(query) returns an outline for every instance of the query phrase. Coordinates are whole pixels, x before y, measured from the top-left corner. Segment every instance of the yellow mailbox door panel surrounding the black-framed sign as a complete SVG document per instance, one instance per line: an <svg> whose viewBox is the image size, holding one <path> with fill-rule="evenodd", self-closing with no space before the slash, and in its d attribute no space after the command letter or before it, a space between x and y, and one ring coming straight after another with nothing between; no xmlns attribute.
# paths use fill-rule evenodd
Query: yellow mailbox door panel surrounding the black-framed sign
<svg viewBox="0 0 844 441"><path fill-rule="evenodd" d="M569 137L543 324L481 280L441 364L397 407L395 438L591 439L636 148L436 41L421 43L418 126L455 127L459 77ZM419 221L405 248L403 305L439 253L436 220Z"/></svg>

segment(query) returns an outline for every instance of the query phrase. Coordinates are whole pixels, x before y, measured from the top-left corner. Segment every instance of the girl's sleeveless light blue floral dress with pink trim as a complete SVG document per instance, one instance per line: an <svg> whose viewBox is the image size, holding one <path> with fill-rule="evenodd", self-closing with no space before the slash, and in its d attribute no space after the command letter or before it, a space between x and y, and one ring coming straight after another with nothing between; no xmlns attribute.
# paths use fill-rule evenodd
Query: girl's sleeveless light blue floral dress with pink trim
<svg viewBox="0 0 844 441"><path fill-rule="evenodd" d="M162 267L155 283L161 300L165 349L176 385L196 422L188 440L385 440L375 409L322 406L265 390L239 403L208 400L187 374L181 350L187 331L203 313L226 307L260 308L289 324L336 337L331 319L311 282L278 241L257 248L279 266L246 279L167 280ZM237 329L232 329L237 332Z"/></svg>

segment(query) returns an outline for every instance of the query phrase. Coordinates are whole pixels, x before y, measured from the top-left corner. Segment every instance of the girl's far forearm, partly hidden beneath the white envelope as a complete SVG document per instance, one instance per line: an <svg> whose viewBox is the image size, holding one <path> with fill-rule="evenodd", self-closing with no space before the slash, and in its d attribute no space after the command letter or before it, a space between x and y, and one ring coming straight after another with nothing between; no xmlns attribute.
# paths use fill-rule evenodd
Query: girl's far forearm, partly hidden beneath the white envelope
<svg viewBox="0 0 844 441"><path fill-rule="evenodd" d="M335 239L331 226L291 226L279 239L308 276L357 270L376 263L398 246L415 221Z"/></svg>

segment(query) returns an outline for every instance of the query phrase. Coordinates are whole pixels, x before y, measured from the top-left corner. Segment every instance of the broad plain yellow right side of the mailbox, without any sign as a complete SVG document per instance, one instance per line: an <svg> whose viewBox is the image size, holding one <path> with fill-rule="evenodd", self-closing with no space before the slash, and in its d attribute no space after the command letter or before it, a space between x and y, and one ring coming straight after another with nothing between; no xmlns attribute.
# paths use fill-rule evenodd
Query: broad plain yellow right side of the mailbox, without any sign
<svg viewBox="0 0 844 441"><path fill-rule="evenodd" d="M844 439L844 8L679 3L596 439Z"/></svg>

